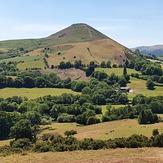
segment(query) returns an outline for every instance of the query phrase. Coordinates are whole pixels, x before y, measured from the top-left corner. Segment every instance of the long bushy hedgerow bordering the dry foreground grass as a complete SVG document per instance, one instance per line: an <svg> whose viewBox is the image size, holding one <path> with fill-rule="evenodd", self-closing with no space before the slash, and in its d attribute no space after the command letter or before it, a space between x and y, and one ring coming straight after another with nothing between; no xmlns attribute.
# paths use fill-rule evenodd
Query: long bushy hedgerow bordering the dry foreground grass
<svg viewBox="0 0 163 163"><path fill-rule="evenodd" d="M76 133L76 132L75 132ZM115 148L142 148L142 147L163 147L163 134L154 129L152 136L133 134L127 138L115 138L109 140L94 140L85 138L77 140L73 136L63 137L58 134L44 134L38 142L32 142L29 138L19 138L10 142L10 146L0 147L2 155L11 153L33 152L63 152L75 150L100 150Z"/></svg>

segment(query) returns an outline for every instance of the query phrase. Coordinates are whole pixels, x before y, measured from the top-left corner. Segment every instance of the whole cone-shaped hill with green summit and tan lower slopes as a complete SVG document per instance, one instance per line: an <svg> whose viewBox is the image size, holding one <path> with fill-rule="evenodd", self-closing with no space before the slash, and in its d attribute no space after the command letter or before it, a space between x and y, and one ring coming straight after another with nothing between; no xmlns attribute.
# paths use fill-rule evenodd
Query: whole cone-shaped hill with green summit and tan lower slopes
<svg viewBox="0 0 163 163"><path fill-rule="evenodd" d="M46 55L50 66L58 65L61 61L74 62L79 59L84 64L108 60L123 64L136 57L128 48L83 23L73 24L46 38L0 42L0 49L12 48L23 48L26 51L25 56Z"/></svg>

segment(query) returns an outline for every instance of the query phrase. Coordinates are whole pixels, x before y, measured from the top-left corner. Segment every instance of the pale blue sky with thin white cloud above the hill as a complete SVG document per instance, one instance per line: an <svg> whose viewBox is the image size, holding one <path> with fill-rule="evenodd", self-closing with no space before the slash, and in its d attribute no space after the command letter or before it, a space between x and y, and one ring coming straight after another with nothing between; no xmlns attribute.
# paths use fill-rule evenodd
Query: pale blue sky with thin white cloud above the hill
<svg viewBox="0 0 163 163"><path fill-rule="evenodd" d="M163 0L0 0L0 40L86 23L128 48L163 44Z"/></svg>

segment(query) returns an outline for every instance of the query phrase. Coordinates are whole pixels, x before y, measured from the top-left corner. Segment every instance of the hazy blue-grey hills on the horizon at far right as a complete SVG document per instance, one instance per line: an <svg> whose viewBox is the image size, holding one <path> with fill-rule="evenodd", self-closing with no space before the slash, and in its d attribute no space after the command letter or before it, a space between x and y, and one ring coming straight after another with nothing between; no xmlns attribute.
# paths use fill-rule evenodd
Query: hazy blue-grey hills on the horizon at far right
<svg viewBox="0 0 163 163"><path fill-rule="evenodd" d="M154 54L156 56L162 56L163 55L163 45L154 45L154 46L140 46L133 48L132 50L139 49L140 52L146 53L146 54Z"/></svg>

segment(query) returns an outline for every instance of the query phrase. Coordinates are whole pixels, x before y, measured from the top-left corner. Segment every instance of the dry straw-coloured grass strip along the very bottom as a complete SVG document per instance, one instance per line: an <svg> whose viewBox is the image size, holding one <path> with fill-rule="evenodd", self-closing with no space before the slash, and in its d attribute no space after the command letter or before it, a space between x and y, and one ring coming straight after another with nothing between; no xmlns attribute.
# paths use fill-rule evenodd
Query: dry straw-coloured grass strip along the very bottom
<svg viewBox="0 0 163 163"><path fill-rule="evenodd" d="M1 163L161 163L162 148L28 153L0 157Z"/></svg>

